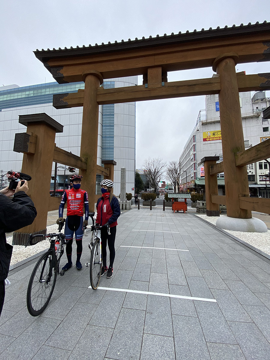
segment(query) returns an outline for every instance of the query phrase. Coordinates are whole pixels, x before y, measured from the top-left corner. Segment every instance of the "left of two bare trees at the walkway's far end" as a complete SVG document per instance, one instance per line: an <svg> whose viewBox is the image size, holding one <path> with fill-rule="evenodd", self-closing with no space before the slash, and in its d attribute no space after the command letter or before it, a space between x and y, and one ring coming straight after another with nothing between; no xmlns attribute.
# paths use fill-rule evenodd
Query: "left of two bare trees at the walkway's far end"
<svg viewBox="0 0 270 360"><path fill-rule="evenodd" d="M145 176L149 181L149 184L154 188L155 194L157 193L158 183L166 170L166 162L163 162L161 158L148 158L143 162L143 168L147 170Z"/></svg>

